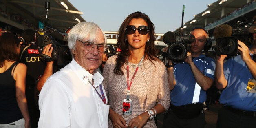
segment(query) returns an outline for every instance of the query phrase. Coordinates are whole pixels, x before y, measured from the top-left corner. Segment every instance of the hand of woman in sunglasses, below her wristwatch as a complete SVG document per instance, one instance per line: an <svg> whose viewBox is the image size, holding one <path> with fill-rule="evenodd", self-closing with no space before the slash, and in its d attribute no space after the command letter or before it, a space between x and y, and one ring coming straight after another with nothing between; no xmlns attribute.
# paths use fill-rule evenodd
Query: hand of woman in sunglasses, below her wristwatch
<svg viewBox="0 0 256 128"><path fill-rule="evenodd" d="M147 123L150 115L147 112L141 113L137 117L134 117L128 124L128 128L142 128Z"/></svg>

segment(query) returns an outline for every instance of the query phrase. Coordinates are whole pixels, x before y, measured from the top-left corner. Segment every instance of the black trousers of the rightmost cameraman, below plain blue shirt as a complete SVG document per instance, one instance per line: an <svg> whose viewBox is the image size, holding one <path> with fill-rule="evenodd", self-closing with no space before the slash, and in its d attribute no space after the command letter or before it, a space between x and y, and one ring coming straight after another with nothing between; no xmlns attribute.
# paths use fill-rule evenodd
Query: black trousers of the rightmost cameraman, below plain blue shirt
<svg viewBox="0 0 256 128"><path fill-rule="evenodd" d="M241 116L222 107L218 111L217 128L256 128L256 117Z"/></svg>

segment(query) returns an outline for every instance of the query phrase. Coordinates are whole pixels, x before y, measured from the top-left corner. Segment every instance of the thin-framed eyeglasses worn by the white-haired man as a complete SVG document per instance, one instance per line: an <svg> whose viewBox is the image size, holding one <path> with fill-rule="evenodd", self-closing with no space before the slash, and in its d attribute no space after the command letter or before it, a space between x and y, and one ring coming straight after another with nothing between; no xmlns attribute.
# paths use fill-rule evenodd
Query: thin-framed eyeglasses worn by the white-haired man
<svg viewBox="0 0 256 128"><path fill-rule="evenodd" d="M81 40L78 40L80 42L82 42ZM100 51L100 52L104 52L107 50L108 48L108 45L105 44L105 43L101 43L101 44L95 44L93 41L90 41L90 40L86 40L84 42L82 42L84 44L84 49L90 51L94 48L95 45L97 45L97 49Z"/></svg>

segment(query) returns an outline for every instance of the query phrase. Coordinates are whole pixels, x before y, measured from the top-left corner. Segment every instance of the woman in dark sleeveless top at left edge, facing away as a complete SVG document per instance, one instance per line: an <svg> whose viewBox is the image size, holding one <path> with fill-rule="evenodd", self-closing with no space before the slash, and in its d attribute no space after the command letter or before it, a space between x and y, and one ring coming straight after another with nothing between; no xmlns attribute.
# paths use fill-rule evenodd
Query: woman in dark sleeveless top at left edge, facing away
<svg viewBox="0 0 256 128"><path fill-rule="evenodd" d="M17 62L21 44L11 32L0 36L0 128L30 128L26 65Z"/></svg>

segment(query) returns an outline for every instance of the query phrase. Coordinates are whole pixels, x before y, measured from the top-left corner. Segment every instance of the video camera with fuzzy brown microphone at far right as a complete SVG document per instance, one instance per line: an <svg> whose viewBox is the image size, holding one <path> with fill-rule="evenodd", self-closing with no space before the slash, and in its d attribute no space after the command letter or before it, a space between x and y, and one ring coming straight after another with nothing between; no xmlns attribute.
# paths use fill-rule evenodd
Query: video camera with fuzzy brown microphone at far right
<svg viewBox="0 0 256 128"><path fill-rule="evenodd" d="M219 30L216 30L216 33L218 33L216 35L216 55L235 56L239 54L238 40L244 42L245 44L248 44L250 34L256 32L256 26L255 24L246 24L245 22L240 21L234 24L232 28L231 26L227 28L227 26L228 25L220 25L219 27L221 28ZM215 29L218 28L216 27ZM221 34L221 31L223 32L223 34Z"/></svg>

